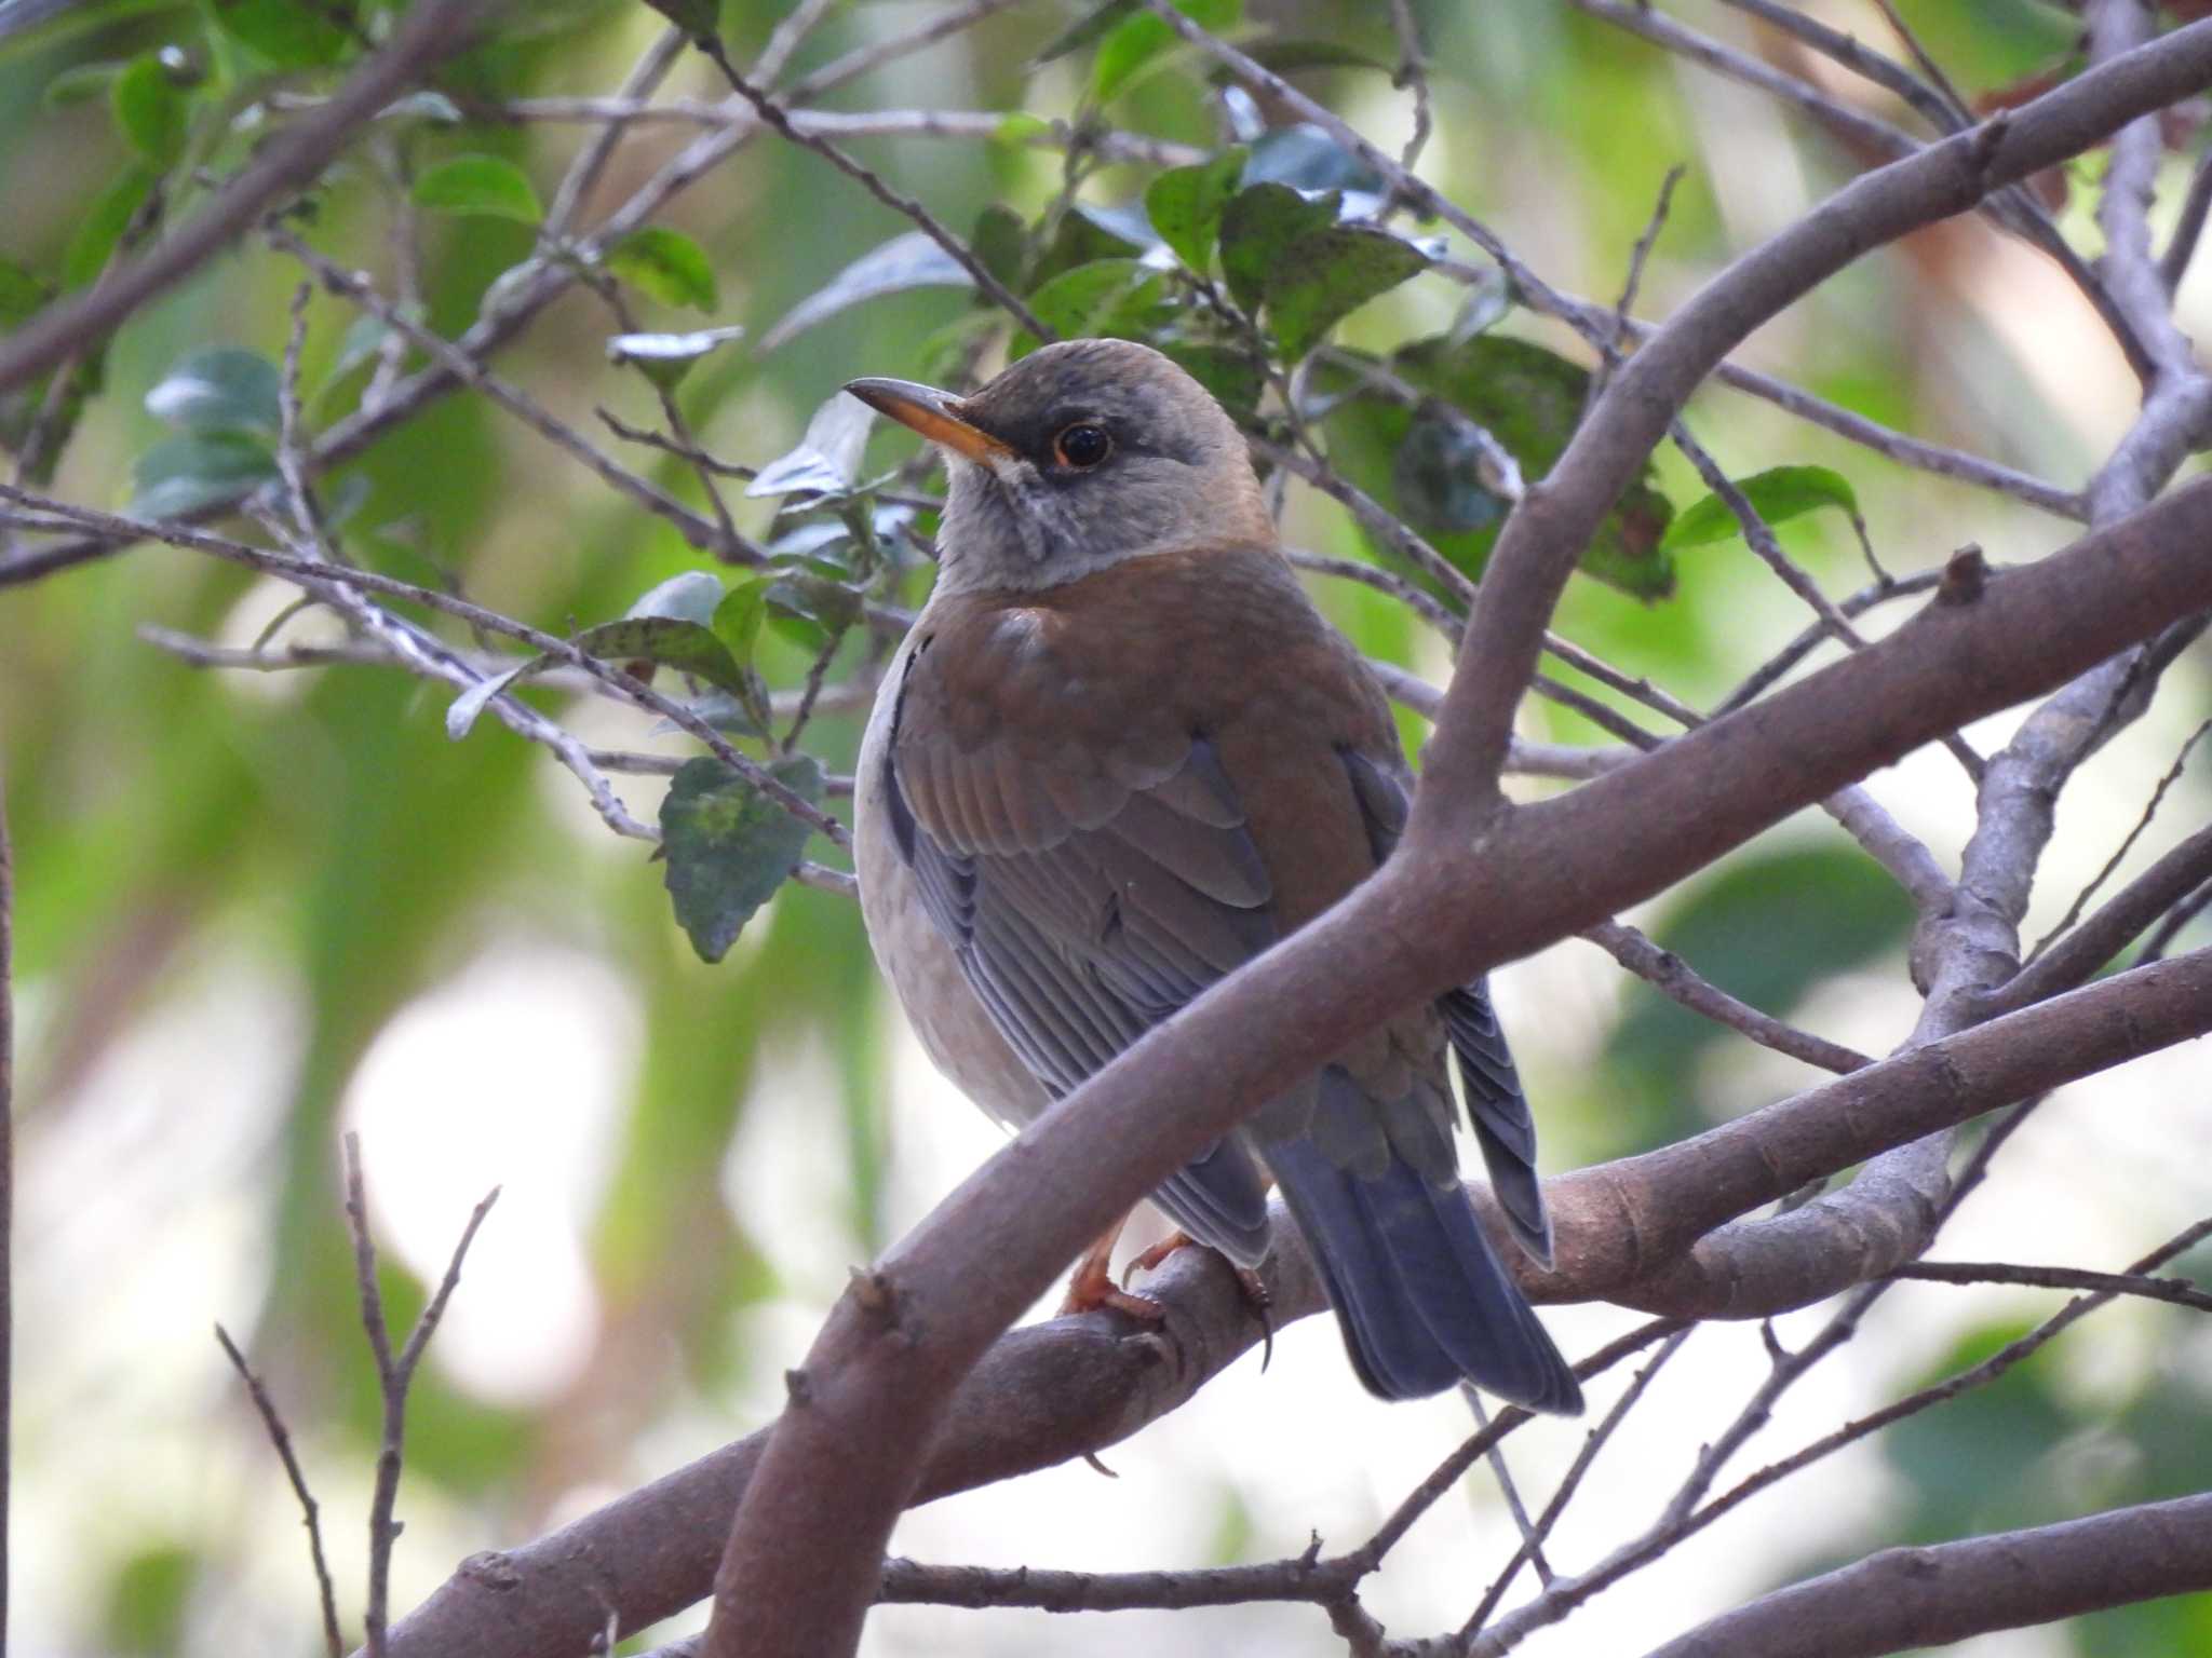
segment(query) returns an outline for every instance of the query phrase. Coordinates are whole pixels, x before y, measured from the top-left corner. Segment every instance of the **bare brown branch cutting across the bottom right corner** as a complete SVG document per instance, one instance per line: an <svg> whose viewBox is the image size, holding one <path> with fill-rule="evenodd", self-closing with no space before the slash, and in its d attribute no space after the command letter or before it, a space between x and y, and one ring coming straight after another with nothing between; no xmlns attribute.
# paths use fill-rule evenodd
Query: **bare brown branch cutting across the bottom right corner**
<svg viewBox="0 0 2212 1658"><path fill-rule="evenodd" d="M2194 1589L2212 1589L2212 1494L1882 1550L1701 1623L1650 1658L1876 1658Z"/></svg>

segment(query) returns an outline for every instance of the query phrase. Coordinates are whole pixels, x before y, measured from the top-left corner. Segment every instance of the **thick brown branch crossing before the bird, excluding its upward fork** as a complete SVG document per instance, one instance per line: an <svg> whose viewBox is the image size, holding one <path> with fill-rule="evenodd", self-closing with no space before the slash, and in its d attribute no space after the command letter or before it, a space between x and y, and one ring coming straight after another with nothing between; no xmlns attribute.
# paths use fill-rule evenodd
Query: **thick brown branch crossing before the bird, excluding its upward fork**
<svg viewBox="0 0 2212 1658"><path fill-rule="evenodd" d="M2212 71L2212 29L2172 40L2183 38ZM719 1618L737 1631L726 1651L852 1647L938 1404L1084 1242L1245 1110L1407 1001L1590 926L1796 807L2212 604L2208 515L2212 482L2192 484L1973 604L1931 604L1889 639L1661 754L1502 814L1478 842L1438 838L1431 814L1413 856L1214 986L984 1165L887 1256L889 1293L841 1302L732 1528L717 1587ZM1493 564L1484 592L1495 579ZM1190 1090L1201 1072L1208 1088Z"/></svg>

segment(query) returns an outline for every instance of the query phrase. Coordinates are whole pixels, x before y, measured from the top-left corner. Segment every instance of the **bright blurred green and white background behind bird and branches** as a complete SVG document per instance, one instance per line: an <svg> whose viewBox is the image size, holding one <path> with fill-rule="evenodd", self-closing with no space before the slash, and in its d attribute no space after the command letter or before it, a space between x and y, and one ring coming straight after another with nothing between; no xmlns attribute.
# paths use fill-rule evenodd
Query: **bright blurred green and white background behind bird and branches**
<svg viewBox="0 0 2212 1658"><path fill-rule="evenodd" d="M1871 4L1812 9L1893 46ZM834 4L796 69L936 11L936 0ZM1747 51L1776 51L1739 13L1694 2L1679 11ZM2077 27L2031 0L1900 0L1900 11L1969 93L2046 69ZM1644 274L1646 316L1663 316L1865 164L1770 99L1553 0L1416 13L1433 51L1438 122L1425 172L1566 290L1610 303L1674 164L1688 175ZM1053 0L1015 4L825 104L1073 115L1086 57L1029 64L1075 15ZM1396 60L1383 7L1252 0L1250 15L1287 38ZM745 62L779 9L748 0L723 18ZM482 99L608 93L659 27L633 4L540 7L526 33L471 53L447 84ZM106 99L55 104L58 77L164 44L204 51L206 38L201 9L142 0L84 4L69 27L7 44L0 256L55 267L88 197L126 161ZM1796 55L1787 66L1889 113L1829 66ZM1385 148L1411 130L1409 99L1385 73L1323 66L1301 84ZM717 82L686 60L668 95L714 97ZM1119 128L1217 141L1203 69L1188 60L1106 113ZM405 148L416 164L504 155L549 197L586 135L571 124L420 124L378 133L372 150L389 159ZM681 126L633 128L584 221L688 137ZM991 201L1035 214L1062 181L1060 157L1024 146L1018 128L1000 139L863 137L852 148L956 228ZM307 234L389 292L383 159L347 161ZM2064 181L2062 223L2086 250L2099 166L2088 159ZM2161 179L2161 228L2185 170L2174 157ZM1104 168L1084 199L1126 203L1146 177ZM719 312L706 321L743 323L752 338L905 228L821 159L772 137L677 197L664 221L712 256ZM425 219L422 232L422 292L447 334L531 250L524 225L484 217ZM206 345L281 354L294 283L294 267L248 248L139 312L115 336L106 387L53 491L95 506L128 500L135 460L166 436L144 393ZM1447 327L1458 303L1453 283L1422 276L1358 312L1340 336L1387 349ZM2212 323L2205 281L2192 281L2181 305L2185 327ZM644 309L648 325L701 323ZM916 290L774 351L739 345L686 380L686 416L717 455L763 464L845 378L920 374L922 343L969 309L958 290ZM314 301L310 387L349 323L336 301ZM611 332L597 301L571 294L498 367L586 431L599 431L593 405L650 422L641 382L606 365ZM1522 312L1500 332L1573 354L1564 332ZM1743 360L2064 486L2110 451L2135 393L2075 290L1982 221L1863 261L1765 327ZM358 378L338 382L310 405L310 422L327 424L356 396ZM1699 398L1692 424L1736 475L1785 462L1845 473L1876 550L1900 575L1942 564L1964 542L2002 564L2075 533L1732 391ZM883 458L909 447L880 442ZM697 500L681 464L624 458ZM622 615L635 595L699 566L666 524L476 396L425 407L341 478L361 482L334 489L365 491L347 531L358 557L407 579L449 573L480 604L555 632ZM1659 484L1677 508L1701 493L1672 453L1659 458ZM737 502L737 513L750 533L768 524L765 502ZM1287 531L1303 546L1365 557L1345 515L1303 486L1290 491ZM1865 584L1834 513L1783 535L1832 592ZM1431 679L1447 672L1436 641L1380 595L1323 584L1316 597L1369 652ZM646 849L611 836L566 772L491 721L449 743L442 690L380 668L208 672L137 637L159 626L243 646L288 601L288 588L161 546L0 590L0 763L20 882L20 1654L319 1647L299 1517L210 1337L215 1322L272 1382L323 1501L341 1601L358 1618L376 1410L338 1209L343 1130L363 1136L400 1315L420 1307L476 1198L491 1185L504 1192L416 1386L396 1609L460 1556L533 1536L765 1421L847 1267L900 1236L998 1143L907 1037L852 902L785 886L726 962L703 966L670 920ZM1876 612L1869 626L1902 610ZM1730 542L1683 553L1666 601L1577 581L1559 630L1710 705L1805 621ZM330 637L321 621L294 628L285 637ZM772 683L794 685L805 654L776 643L765 665ZM588 741L688 752L606 703L553 692L540 701ZM2106 862L2208 712L2212 672L2199 648L2068 791L2031 940ZM823 716L807 747L845 772L858 725L852 712ZM1973 736L1989 747L2008 725L1991 721ZM1418 741L1411 718L1407 730ZM1597 741L1540 701L1524 712L1524 734ZM2205 776L2199 758L2121 878L2205 820ZM650 820L661 783L619 787ZM1955 867L1971 791L1947 756L1916 756L1874 791ZM818 840L812 856L832 858ZM1630 920L1725 988L1867 1052L1900 1041L1918 1008L1902 895L1818 814ZM2205 940L2199 924L2181 944ZM1506 968L1498 999L1553 1169L1679 1138L1814 1081L1699 1024L1586 944ZM2212 1209L2208 1099L2201 1046L2062 1090L1936 1253L2128 1262ZM2194 1265L2203 1271L2212 1256ZM2055 1304L2044 1291L1896 1289L1858 1340L1787 1397L1739 1472L1989 1351ZM1546 1318L1577 1355L1632 1322L1606 1307ZM1798 1313L1781 1335L1794 1342L1820 1320L1820 1309ZM1599 1459L1553 1563L1588 1565L1648 1523L1763 1368L1752 1326L1692 1337ZM1597 1386L1595 1408L1626 1375ZM2002 1384L1745 1505L1528 1651L1641 1651L1747 1594L1885 1543L2203 1490L2208 1377L2212 1331L2201 1315L2104 1311ZM1073 1466L956 1497L911 1514L894 1547L1079 1570L1259 1561L1303 1550L1310 1532L1347 1547L1467 1426L1455 1399L1365 1397L1334 1329L1307 1320L1283 1333L1265 1375L1248 1355L1186 1410L1108 1452L1119 1479ZM1582 1435L1584 1424L1537 1424L1511 1441L1531 1503ZM1391 1556L1367 1605L1391 1634L1455 1627L1511 1547L1511 1519L1478 1468ZM1071 1618L894 1607L867 1636L883 1658L1139 1645L1159 1658L1340 1649L1310 1607ZM2212 1598L1969 1647L2008 1658L2205 1649Z"/></svg>

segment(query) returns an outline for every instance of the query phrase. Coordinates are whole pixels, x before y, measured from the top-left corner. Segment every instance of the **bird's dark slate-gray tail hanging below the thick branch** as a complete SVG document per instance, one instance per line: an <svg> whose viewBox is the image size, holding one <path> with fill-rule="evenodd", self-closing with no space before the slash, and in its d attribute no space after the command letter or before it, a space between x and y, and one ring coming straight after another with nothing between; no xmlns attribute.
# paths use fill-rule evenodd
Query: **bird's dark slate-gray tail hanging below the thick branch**
<svg viewBox="0 0 2212 1658"><path fill-rule="evenodd" d="M1575 1373L1462 1189L1433 1187L1398 1158L1367 1180L1312 1141L1272 1143L1265 1158L1369 1393L1422 1399L1467 1379L1531 1410L1582 1413Z"/></svg>

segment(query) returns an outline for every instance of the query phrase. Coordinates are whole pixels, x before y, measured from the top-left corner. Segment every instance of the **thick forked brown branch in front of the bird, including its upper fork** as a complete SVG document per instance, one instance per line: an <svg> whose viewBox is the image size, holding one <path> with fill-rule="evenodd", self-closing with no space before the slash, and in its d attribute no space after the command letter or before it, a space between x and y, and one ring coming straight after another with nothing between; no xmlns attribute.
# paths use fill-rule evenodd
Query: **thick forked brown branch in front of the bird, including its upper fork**
<svg viewBox="0 0 2212 1658"><path fill-rule="evenodd" d="M1172 7L1155 0L1152 15L1206 44ZM894 1247L869 1293L832 1311L730 1530L714 1658L854 1649L889 1528L960 1377L1086 1238L1263 1099L1420 995L1590 926L1798 805L2212 604L2212 495L2194 486L1973 604L1931 606L1666 754L1535 807L1506 809L1498 794L1559 586L1721 356L1869 248L2208 82L2212 24L2124 53L1847 186L1637 351L1506 522L1407 856L1093 1077ZM2064 608L2046 610L2053 601ZM1199 1077L1206 1088L1190 1088Z"/></svg>

